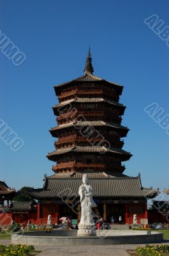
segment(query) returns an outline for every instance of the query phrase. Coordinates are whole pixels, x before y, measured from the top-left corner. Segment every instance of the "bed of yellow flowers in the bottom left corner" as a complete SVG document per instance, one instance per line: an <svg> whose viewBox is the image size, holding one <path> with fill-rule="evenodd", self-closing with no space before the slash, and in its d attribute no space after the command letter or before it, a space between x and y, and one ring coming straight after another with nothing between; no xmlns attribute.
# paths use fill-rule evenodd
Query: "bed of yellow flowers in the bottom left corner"
<svg viewBox="0 0 169 256"><path fill-rule="evenodd" d="M0 244L0 256L29 256L34 252L34 246L13 245L5 246Z"/></svg>

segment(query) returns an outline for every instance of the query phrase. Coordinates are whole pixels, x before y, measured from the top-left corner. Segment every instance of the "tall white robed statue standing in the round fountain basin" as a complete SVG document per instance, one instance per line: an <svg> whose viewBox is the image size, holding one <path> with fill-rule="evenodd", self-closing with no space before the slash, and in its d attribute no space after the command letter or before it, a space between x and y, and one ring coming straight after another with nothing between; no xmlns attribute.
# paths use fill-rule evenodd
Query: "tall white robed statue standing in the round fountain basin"
<svg viewBox="0 0 169 256"><path fill-rule="evenodd" d="M96 207L96 203L92 199L92 187L89 185L89 177L83 175L83 184L78 189L81 204L81 218L78 224L77 236L96 236L96 229L92 217L92 207Z"/></svg>

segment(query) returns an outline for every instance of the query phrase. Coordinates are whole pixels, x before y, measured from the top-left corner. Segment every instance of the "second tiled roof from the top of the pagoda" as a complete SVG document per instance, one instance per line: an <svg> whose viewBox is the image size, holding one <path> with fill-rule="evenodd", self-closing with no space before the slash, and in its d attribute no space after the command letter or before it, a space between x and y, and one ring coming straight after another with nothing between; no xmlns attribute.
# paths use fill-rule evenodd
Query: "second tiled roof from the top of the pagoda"
<svg viewBox="0 0 169 256"><path fill-rule="evenodd" d="M116 102L114 100L107 100L107 99L103 99L103 98L77 98L77 99L65 100L65 101L55 105L53 108L60 108L62 106L66 106L66 105L70 104L71 102L78 102L78 103L108 102L112 105L126 108L124 105L120 104L119 102Z"/></svg>

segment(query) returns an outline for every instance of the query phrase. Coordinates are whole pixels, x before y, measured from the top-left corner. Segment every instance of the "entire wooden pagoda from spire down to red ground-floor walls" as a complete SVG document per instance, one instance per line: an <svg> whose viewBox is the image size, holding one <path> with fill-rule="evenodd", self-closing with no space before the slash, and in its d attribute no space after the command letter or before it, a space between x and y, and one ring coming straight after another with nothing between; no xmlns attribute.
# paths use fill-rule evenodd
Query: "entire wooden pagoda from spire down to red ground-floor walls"
<svg viewBox="0 0 169 256"><path fill-rule="evenodd" d="M52 109L57 125L50 133L57 140L47 155L54 162L54 175L46 176L43 188L33 189L38 199L36 223L58 223L62 216L80 220L78 188L82 175L89 174L96 215L111 222L147 221L147 198L158 191L142 187L140 175L124 175L124 161L132 156L123 150L128 127L121 124L125 106L119 103L123 86L93 74L91 51L87 54L84 75L54 87L59 103Z"/></svg>

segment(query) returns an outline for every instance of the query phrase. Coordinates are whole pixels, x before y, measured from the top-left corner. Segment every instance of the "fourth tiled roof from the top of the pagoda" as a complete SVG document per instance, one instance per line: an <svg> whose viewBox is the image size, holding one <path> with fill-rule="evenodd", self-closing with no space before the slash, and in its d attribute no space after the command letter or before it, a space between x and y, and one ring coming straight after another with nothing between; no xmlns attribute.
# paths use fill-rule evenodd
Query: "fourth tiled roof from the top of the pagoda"
<svg viewBox="0 0 169 256"><path fill-rule="evenodd" d="M99 153L115 153L115 154L122 154L122 155L128 155L131 157L131 154L125 150L122 150L121 148L105 148L105 147L68 147L68 148L59 148L55 150L54 152L51 152L48 154L48 159L53 160L54 156L65 154L68 152L99 152ZM55 160L55 159L54 159Z"/></svg>

